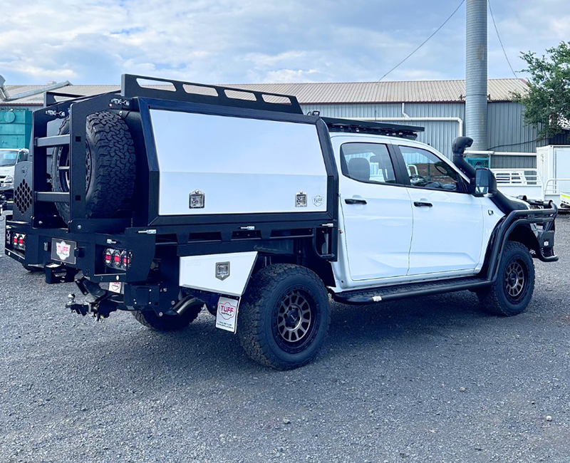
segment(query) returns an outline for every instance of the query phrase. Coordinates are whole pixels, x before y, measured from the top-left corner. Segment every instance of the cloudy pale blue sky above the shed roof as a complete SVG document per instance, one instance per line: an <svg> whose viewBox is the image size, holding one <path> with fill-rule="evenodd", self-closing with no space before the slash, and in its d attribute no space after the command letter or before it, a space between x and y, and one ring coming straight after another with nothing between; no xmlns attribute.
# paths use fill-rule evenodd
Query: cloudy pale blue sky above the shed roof
<svg viewBox="0 0 570 463"><path fill-rule="evenodd" d="M570 41L569 0L491 0L520 51ZM460 0L1 0L6 84L119 83L140 73L204 83L378 80ZM465 76L465 4L385 80ZM523 76L523 75L521 75ZM489 77L512 77L489 16Z"/></svg>

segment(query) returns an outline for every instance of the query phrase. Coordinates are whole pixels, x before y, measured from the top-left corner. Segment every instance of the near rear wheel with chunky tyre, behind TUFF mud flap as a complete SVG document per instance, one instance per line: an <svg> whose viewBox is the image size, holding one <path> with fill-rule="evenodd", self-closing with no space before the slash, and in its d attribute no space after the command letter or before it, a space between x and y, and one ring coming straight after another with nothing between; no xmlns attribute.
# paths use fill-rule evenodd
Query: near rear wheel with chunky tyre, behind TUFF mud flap
<svg viewBox="0 0 570 463"><path fill-rule="evenodd" d="M261 365L291 370L313 360L331 323L328 294L311 270L274 264L252 277L239 307L237 334Z"/></svg>

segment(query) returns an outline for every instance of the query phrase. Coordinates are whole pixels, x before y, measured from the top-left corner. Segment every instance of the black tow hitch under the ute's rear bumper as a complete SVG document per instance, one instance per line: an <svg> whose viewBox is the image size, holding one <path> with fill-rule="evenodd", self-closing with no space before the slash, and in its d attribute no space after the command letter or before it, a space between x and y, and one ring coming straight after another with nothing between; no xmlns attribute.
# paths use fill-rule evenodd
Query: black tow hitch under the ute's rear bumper
<svg viewBox="0 0 570 463"><path fill-rule="evenodd" d="M72 312L83 316L90 313L96 321L103 321L104 318L108 318L111 312L118 310L118 308L125 308L123 306L122 294L103 289L97 283L89 281L84 276L82 276L81 279L76 279L75 282L79 291L81 291L84 296L91 295L95 297L95 301L78 303L76 302L76 295L70 293L68 295L66 308Z"/></svg>

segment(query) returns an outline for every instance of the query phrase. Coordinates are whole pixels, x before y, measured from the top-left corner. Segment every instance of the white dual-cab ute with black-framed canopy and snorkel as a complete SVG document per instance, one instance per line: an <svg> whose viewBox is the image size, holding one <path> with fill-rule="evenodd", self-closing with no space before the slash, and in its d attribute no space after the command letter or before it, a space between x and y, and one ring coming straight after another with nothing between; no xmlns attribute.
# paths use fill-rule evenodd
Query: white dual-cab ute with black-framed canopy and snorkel
<svg viewBox="0 0 570 463"><path fill-rule="evenodd" d="M315 358L329 296L369 304L470 290L484 310L512 316L532 297L533 259L558 259L556 207L504 196L490 170L465 161L468 137L448 160L415 141L423 128L143 79L51 101L34 115L33 162L16 169L6 254L94 297L70 295L71 311L130 311L171 331L205 307L251 358L283 370Z"/></svg>

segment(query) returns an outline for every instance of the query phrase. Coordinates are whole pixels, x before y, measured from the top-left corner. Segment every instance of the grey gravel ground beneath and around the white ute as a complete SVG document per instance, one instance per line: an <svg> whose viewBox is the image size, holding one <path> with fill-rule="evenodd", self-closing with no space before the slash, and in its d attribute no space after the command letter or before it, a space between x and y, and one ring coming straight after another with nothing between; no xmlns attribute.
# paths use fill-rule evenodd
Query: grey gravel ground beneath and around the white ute
<svg viewBox="0 0 570 463"><path fill-rule="evenodd" d="M569 462L570 218L526 313L471 293L334 304L316 362L250 361L209 313L67 313L0 245L0 462ZM4 225L1 225L4 243Z"/></svg>

